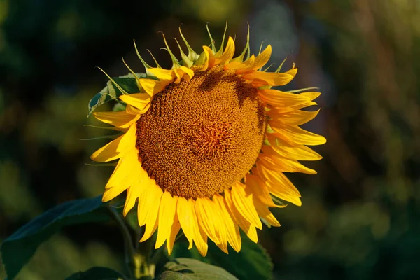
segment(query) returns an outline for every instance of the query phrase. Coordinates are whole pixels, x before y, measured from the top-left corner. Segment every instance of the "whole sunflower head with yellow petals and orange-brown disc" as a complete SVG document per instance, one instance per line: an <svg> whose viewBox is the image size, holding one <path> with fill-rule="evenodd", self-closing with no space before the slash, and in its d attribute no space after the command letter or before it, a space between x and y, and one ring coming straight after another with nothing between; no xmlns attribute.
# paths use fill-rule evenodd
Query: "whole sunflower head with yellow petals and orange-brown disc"
<svg viewBox="0 0 420 280"><path fill-rule="evenodd" d="M179 46L181 61L163 36L172 69L158 62L149 66L139 52L146 78L125 64L136 77L138 93L127 94L110 78L123 92L125 111L94 116L123 134L91 158L118 160L103 201L127 192L123 214L137 203L139 225L145 226L140 241L158 230L155 248L166 241L170 254L182 229L189 248L195 244L203 256L208 238L225 253L228 244L240 251L239 228L257 242L262 222L280 225L269 207L285 207L281 200L301 205L284 172L316 174L298 160L320 160L307 146L324 144L325 138L299 125L318 114L302 108L316 104L321 93L272 89L289 83L297 68L262 70L272 48L250 55L249 31L244 51L235 58L232 37L223 50L224 35L216 50L209 32L211 45L197 54L181 29L180 34L188 49L186 54Z"/></svg>

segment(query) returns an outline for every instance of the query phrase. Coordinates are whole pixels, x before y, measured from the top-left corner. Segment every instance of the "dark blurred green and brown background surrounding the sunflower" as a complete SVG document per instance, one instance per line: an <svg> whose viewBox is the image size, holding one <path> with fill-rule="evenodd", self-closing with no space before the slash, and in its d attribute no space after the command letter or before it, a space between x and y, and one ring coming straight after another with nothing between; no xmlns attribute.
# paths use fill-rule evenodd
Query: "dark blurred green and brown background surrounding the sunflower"
<svg viewBox="0 0 420 280"><path fill-rule="evenodd" d="M89 155L104 132L85 124L106 77L144 71L132 39L170 66L163 46L207 45L225 21L237 53L271 44L270 62L299 73L288 89L321 87L321 113L305 128L328 139L292 174L302 207L275 211L260 242L275 279L420 279L419 0L0 0L0 241L55 205L102 193L111 167ZM170 46L176 50L172 40ZM105 110L106 106L101 110ZM67 228L43 244L18 279L63 279L93 265L121 269L112 223ZM0 268L0 277L4 272ZM419 278L417 278L419 277Z"/></svg>

